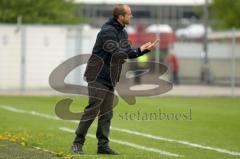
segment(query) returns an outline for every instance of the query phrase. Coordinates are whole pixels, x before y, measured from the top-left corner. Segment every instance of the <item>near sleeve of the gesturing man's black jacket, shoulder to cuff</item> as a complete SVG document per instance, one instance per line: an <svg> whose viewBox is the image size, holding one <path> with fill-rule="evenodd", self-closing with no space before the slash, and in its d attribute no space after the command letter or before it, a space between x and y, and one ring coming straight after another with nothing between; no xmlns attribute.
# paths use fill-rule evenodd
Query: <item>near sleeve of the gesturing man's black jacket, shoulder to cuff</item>
<svg viewBox="0 0 240 159"><path fill-rule="evenodd" d="M132 48L128 40L118 42L117 34L113 30L102 31L100 37L103 42L103 49L107 53L125 54L126 58L132 59L150 52L150 50L141 52L140 48Z"/></svg>

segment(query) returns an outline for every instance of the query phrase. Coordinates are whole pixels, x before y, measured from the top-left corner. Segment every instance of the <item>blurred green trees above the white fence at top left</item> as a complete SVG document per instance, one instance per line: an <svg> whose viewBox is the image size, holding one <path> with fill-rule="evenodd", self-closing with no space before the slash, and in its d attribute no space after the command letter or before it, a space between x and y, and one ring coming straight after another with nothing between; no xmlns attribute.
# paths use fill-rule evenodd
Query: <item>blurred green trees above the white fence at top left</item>
<svg viewBox="0 0 240 159"><path fill-rule="evenodd" d="M77 24L85 18L77 15L80 9L72 0L0 0L0 22Z"/></svg>

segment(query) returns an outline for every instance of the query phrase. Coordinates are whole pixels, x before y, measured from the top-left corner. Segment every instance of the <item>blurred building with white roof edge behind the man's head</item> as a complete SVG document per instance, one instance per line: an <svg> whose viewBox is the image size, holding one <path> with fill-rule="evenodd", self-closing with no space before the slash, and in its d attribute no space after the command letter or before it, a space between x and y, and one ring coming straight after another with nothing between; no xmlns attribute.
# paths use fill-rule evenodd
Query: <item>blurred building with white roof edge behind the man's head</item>
<svg viewBox="0 0 240 159"><path fill-rule="evenodd" d="M169 24L176 29L198 22L196 7L203 8L205 0L75 0L75 3L82 8L79 14L88 17L94 26L101 26L112 15L114 4L122 3L132 8L132 25L141 20L146 25Z"/></svg>

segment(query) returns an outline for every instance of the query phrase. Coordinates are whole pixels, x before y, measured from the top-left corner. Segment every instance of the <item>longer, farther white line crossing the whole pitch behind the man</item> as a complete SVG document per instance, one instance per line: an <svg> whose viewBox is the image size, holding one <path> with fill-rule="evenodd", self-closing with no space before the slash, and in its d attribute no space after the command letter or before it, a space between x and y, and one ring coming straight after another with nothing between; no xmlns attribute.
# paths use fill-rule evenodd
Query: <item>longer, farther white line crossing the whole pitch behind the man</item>
<svg viewBox="0 0 240 159"><path fill-rule="evenodd" d="M13 108L11 106L6 106L6 105L0 105L0 108L8 110L8 111L12 111L12 112L17 112L17 113L25 113L25 114L36 115L36 116L49 118L49 119L54 119L54 120L62 120L62 119L59 119L58 117L55 117L55 116L42 114L42 113L38 113L38 112L35 112L35 111L31 111L31 112L24 111L24 110L16 109L16 108ZM69 121L69 120L67 120L67 121ZM69 121L69 122L79 123L79 121ZM230 151L230 150L226 150L226 149L222 149L222 148L204 146L204 145L200 145L200 144L191 143L191 142L188 142L188 141L175 140L175 139L165 138L165 137L161 137L161 136L154 136L154 135L151 135L151 134L141 133L141 132L132 131L132 130L128 130L128 129L116 128L116 127L111 127L111 130L124 132L124 133L128 133L128 134L133 134L133 135L138 135L138 136L143 136L143 137L151 138L151 139L155 139L155 140L179 143L179 144L187 145L187 146L190 146L190 147L196 147L196 148L205 149L205 150L212 150L212 151L216 151L216 152L219 152L219 153L225 153L225 154L229 154L229 155L233 155L233 156L240 156L240 152Z"/></svg>

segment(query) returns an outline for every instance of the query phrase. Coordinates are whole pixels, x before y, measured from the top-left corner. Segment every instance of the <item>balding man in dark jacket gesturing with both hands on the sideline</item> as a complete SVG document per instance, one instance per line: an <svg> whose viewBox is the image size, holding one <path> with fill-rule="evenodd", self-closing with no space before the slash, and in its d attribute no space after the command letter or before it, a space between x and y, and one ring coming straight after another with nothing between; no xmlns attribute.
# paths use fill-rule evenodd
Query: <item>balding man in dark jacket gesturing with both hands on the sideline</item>
<svg viewBox="0 0 240 159"><path fill-rule="evenodd" d="M140 48L131 48L129 43L125 43L128 40L128 35L124 27L130 23L132 17L128 5L116 5L113 10L113 17L102 26L97 35L85 72L88 82L89 105L85 107L76 130L76 137L72 145L74 153L83 153L82 147L88 128L98 115L97 153L118 154L109 147L109 132L110 121L113 116L113 92L116 83L119 81L121 66L124 59L139 57L149 52L157 43L157 41L154 43L148 42Z"/></svg>

